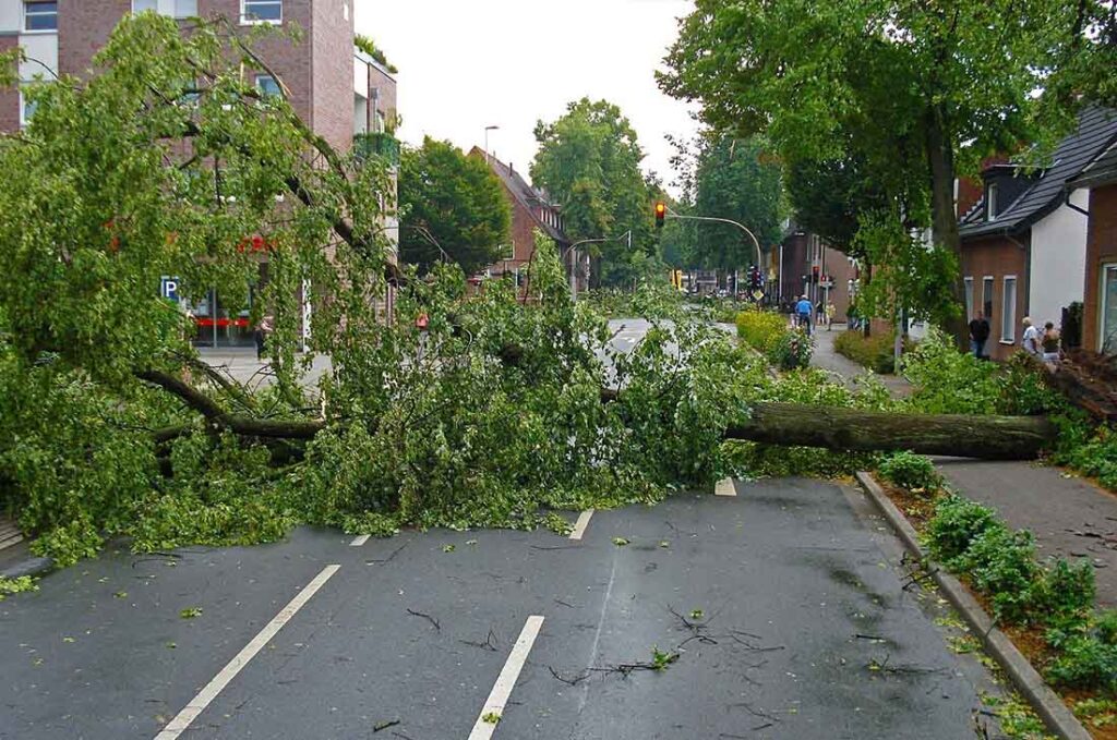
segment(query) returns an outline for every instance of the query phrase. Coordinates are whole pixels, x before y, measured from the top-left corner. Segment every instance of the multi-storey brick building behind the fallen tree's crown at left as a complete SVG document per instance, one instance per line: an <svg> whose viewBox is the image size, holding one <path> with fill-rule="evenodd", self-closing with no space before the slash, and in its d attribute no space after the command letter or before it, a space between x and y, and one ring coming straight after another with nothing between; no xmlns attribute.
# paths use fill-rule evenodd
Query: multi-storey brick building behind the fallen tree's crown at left
<svg viewBox="0 0 1117 740"><path fill-rule="evenodd" d="M130 12L152 10L179 19L223 16L246 31L260 23L297 25L300 42L275 37L260 39L254 47L290 90L295 112L341 152L356 144L398 161L398 144L385 131L395 119L395 79L354 47L353 1L0 0L0 49L23 47L27 60L20 65L20 79L34 84L55 74L88 74L94 55ZM276 80L260 70L246 74L261 92L278 89ZM0 90L0 129L17 129L32 113L20 92ZM394 219L386 227L389 237L398 241ZM266 262L260 270L266 279ZM229 315L212 292L191 308L202 343L251 343L247 311Z"/></svg>

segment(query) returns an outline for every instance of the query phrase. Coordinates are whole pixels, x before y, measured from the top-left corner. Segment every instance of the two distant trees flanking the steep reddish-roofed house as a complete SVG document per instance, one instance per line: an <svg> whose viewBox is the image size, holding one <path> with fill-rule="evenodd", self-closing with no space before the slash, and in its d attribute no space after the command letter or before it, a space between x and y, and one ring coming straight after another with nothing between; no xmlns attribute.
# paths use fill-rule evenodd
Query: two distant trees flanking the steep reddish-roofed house
<svg viewBox="0 0 1117 740"><path fill-rule="evenodd" d="M590 252L593 282L630 283L658 269L651 204L661 189L641 172L643 151L620 108L583 98L541 121L535 137L532 181L562 208L570 239L611 239ZM404 150L399 189L404 261L429 269L448 260L474 273L507 251L510 209L484 160L428 138Z"/></svg>

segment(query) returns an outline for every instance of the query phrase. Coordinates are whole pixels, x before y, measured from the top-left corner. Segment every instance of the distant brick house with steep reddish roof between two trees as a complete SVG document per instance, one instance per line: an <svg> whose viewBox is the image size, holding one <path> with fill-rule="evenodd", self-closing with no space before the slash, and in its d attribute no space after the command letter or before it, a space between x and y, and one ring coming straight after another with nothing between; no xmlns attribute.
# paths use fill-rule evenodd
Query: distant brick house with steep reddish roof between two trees
<svg viewBox="0 0 1117 740"><path fill-rule="evenodd" d="M500 162L478 146L469 156L484 158L504 188L512 206L512 243L504 244L503 258L486 268L485 277L510 276L517 286L527 278L527 267L535 254L535 231L548 237L565 259L566 273L576 291L589 287L590 257L584 251L571 249L572 241L563 231L562 213L546 193L533 188L512 164Z"/></svg>

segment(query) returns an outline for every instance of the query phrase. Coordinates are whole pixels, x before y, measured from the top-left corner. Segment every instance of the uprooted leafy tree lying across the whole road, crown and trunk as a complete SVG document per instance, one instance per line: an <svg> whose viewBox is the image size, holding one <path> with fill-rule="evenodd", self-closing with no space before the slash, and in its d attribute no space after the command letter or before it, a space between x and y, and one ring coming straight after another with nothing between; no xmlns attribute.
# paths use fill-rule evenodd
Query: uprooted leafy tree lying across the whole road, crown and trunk
<svg viewBox="0 0 1117 740"><path fill-rule="evenodd" d="M29 88L34 121L0 140L0 503L61 561L120 534L143 549L274 539L297 521L561 526L538 511L745 471L726 438L995 457L1050 439L1039 420L856 409L820 426L698 321L613 352L546 240L526 299L499 280L468 295L457 268L397 269L388 165L337 152L257 92L244 70L267 65L238 31L125 19L96 75ZM273 382L201 363L162 276L188 300L216 288L252 320L274 316ZM299 372L314 354L332 365L311 392ZM993 436L1011 442L968 446Z"/></svg>

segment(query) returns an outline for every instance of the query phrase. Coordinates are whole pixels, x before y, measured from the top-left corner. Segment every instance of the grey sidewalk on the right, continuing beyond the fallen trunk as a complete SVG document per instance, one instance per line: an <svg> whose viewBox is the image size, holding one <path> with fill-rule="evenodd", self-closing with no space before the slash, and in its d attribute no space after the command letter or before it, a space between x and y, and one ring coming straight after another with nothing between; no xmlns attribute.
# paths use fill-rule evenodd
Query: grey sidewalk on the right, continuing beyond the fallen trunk
<svg viewBox="0 0 1117 740"><path fill-rule="evenodd" d="M844 326L841 329L844 330ZM839 355L833 339L839 326L817 331L812 365L850 383L865 368ZM910 391L901 377L878 376L894 395ZM1029 462L992 462L961 458L935 460L947 482L966 498L996 509L1013 528L1035 535L1041 559L1088 558L1095 567L1098 605L1117 608L1117 496L1060 468Z"/></svg>

